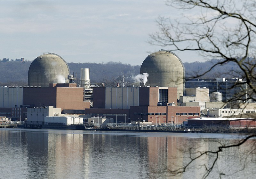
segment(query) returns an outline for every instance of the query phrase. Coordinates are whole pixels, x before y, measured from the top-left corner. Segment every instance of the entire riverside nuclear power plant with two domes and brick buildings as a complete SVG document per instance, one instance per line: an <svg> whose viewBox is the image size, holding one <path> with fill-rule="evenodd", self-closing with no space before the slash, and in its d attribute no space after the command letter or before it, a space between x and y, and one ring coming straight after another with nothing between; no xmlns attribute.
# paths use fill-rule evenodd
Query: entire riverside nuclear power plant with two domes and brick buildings
<svg viewBox="0 0 256 179"><path fill-rule="evenodd" d="M184 65L176 54L168 50L160 50L145 58L139 75L143 79L140 79L138 86L92 85L90 69L81 68L80 72L77 84L76 77L70 74L68 64L61 56L54 53L40 55L29 67L27 87L0 88L1 114L20 121L28 118L27 124L38 126L44 124L44 115L50 114L77 115L78 121L82 117L87 124L89 119L93 123L96 117L98 121L99 118L111 118L111 121L116 119L116 122L124 123L140 121L181 124L201 114L210 115L209 109L213 107L222 109L211 112L216 116L227 116L227 110L245 113L243 110L237 111L239 107L229 109L226 102L221 102L219 93L210 94L209 99L209 88L205 88L204 84L212 85L211 81L189 81L190 86L185 89ZM217 89L220 90L226 81L218 79L217 82ZM201 85L201 88L196 85ZM40 113L42 111L46 113ZM54 118L48 118L47 123L49 119ZM70 116L69 119L67 117L67 120L70 119Z"/></svg>

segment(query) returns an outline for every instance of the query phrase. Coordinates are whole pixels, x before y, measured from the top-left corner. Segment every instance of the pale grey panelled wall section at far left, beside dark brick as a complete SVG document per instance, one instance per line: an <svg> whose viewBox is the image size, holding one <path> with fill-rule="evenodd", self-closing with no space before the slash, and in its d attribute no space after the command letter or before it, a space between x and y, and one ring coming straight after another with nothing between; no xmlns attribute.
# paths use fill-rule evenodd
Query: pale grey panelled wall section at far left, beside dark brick
<svg viewBox="0 0 256 179"><path fill-rule="evenodd" d="M19 108L22 102L23 88L0 87L0 108Z"/></svg>

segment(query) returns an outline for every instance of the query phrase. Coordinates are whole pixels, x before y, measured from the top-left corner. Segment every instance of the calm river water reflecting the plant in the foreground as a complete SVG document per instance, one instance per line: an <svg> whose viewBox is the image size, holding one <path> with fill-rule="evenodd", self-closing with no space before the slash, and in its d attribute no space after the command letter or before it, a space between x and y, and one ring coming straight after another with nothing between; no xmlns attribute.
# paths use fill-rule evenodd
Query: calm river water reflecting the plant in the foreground
<svg viewBox="0 0 256 179"><path fill-rule="evenodd" d="M188 170L190 155L235 144L245 135L0 129L1 178L202 178L213 154ZM256 140L224 149L208 178L255 178Z"/></svg>

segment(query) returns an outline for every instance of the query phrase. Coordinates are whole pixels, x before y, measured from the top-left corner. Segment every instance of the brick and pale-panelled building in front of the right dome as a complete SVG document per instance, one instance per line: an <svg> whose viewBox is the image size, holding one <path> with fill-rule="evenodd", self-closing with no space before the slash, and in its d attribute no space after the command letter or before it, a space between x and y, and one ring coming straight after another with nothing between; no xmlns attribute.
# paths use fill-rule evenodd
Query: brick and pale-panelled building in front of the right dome
<svg viewBox="0 0 256 179"><path fill-rule="evenodd" d="M176 94L174 87L95 88L93 108L85 109L85 114L158 124L200 117L199 106L176 106Z"/></svg>

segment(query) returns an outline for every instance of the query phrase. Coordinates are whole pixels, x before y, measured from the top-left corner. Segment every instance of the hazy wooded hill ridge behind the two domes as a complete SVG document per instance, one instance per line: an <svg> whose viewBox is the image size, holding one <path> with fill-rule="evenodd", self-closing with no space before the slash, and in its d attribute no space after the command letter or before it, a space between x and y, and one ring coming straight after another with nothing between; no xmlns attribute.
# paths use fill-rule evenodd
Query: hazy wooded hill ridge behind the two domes
<svg viewBox="0 0 256 179"><path fill-rule="evenodd" d="M211 72L197 77L197 75L203 74L219 61L221 60L212 59L205 62L185 62L186 78L242 78L240 71L233 62L218 65ZM31 62L10 61L7 63L0 61L0 86L27 86L28 68ZM80 69L90 68L91 83L102 82L106 86L114 86L117 81L123 81L123 73L125 82L128 84L132 83L134 82L132 77L140 73L140 65L132 66L113 61L107 63L68 63L68 66L70 73L72 75L74 74L75 77L77 76L77 82L80 80Z"/></svg>

